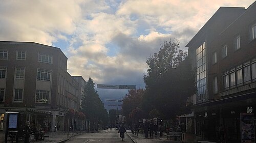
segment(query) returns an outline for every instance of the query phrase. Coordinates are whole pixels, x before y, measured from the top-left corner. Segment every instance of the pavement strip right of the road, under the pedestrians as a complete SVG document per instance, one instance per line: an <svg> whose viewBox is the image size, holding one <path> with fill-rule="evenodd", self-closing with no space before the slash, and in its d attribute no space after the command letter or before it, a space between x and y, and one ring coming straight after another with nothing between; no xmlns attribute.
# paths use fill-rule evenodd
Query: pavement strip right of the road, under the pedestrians
<svg viewBox="0 0 256 143"><path fill-rule="evenodd" d="M145 134L138 133L137 135L132 134L130 130L126 134L133 140L134 143L151 143L151 142L169 142L169 143L181 143L182 141L167 140L166 136L160 137L159 135L154 135L153 138L145 138ZM148 134L149 136L149 134Z"/></svg>

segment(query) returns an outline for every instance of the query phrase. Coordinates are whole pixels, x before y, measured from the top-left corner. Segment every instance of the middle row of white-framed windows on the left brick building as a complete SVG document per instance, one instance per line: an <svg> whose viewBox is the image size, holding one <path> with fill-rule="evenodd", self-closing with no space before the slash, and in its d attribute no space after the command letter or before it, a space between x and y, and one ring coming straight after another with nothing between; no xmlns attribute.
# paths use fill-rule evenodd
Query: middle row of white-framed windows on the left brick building
<svg viewBox="0 0 256 143"><path fill-rule="evenodd" d="M0 67L0 78L6 78L7 67ZM51 71L37 69L37 80L51 81ZM25 67L15 67L15 79L25 78Z"/></svg>

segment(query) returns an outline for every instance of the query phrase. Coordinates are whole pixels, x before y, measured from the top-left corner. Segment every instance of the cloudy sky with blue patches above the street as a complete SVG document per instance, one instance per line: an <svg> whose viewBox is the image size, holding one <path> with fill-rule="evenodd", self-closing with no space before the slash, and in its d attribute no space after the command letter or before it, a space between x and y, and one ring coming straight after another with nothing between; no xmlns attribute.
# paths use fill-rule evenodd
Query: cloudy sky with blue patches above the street
<svg viewBox="0 0 256 143"><path fill-rule="evenodd" d="M23 0L1 1L0 40L59 47L68 72L95 84L135 84L144 88L146 59L160 44L195 36L220 7L248 8L252 0ZM96 89L107 109L127 90Z"/></svg>

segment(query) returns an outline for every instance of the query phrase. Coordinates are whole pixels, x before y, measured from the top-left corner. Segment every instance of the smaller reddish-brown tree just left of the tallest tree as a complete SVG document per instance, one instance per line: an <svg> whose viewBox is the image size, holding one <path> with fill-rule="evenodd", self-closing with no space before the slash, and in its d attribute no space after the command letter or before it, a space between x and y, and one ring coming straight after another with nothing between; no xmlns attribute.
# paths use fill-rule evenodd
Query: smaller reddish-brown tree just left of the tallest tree
<svg viewBox="0 0 256 143"><path fill-rule="evenodd" d="M122 112L125 117L129 117L129 114L136 109L136 107L141 106L141 100L144 95L145 90L129 90L123 98Z"/></svg>

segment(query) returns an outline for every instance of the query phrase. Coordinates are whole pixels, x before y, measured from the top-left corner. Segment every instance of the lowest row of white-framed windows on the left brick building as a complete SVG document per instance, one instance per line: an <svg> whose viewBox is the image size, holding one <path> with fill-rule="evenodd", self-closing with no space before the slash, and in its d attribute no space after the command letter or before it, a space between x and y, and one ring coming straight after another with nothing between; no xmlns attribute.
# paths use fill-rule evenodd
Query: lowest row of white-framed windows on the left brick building
<svg viewBox="0 0 256 143"><path fill-rule="evenodd" d="M14 89L13 102L23 102L24 90ZM5 100L5 89L0 89L0 102ZM36 90L35 103L49 103L50 91Z"/></svg>

